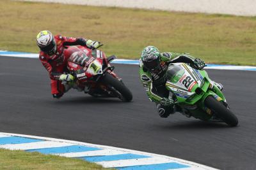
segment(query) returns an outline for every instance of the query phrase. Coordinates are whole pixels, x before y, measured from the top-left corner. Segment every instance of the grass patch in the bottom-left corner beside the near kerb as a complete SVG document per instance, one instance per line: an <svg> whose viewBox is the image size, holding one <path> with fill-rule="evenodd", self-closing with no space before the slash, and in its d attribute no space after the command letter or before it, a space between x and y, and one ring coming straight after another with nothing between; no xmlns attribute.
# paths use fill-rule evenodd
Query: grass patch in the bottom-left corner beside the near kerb
<svg viewBox="0 0 256 170"><path fill-rule="evenodd" d="M104 170L106 168L80 159L71 159L55 155L43 155L38 152L0 149L0 169Z"/></svg>

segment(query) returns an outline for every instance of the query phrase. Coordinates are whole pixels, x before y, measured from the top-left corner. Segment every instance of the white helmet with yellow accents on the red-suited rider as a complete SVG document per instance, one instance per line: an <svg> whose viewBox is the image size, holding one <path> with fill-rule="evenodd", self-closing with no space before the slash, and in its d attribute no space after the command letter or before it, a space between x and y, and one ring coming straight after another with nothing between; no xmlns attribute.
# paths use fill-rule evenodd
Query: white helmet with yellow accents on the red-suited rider
<svg viewBox="0 0 256 170"><path fill-rule="evenodd" d="M40 31L36 36L36 43L40 50L48 55L54 55L57 52L56 41L50 31Z"/></svg>

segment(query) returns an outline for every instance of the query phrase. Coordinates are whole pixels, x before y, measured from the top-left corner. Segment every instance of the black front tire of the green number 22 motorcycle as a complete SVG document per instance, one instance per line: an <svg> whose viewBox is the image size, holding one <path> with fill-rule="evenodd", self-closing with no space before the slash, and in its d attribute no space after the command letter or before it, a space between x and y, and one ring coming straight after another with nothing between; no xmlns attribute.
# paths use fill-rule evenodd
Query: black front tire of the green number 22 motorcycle
<svg viewBox="0 0 256 170"><path fill-rule="evenodd" d="M238 124L238 119L228 108L226 108L222 103L217 101L213 96L206 97L205 106L210 110L214 111L217 117L220 117L223 122L234 127Z"/></svg>

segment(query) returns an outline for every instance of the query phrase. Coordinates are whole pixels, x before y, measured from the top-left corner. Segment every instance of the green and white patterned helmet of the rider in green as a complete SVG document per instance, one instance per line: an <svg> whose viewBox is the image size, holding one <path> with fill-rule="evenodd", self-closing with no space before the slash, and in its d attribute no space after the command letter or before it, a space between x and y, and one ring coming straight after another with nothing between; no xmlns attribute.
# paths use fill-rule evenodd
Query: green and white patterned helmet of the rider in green
<svg viewBox="0 0 256 170"><path fill-rule="evenodd" d="M155 46L147 46L141 52L143 66L149 71L156 71L160 66L160 52Z"/></svg>

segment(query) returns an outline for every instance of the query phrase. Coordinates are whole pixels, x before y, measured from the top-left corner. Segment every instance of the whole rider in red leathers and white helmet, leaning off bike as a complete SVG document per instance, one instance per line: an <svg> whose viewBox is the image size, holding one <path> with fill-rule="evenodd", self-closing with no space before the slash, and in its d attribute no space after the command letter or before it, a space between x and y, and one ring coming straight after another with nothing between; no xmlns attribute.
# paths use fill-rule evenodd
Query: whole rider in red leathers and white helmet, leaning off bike
<svg viewBox="0 0 256 170"><path fill-rule="evenodd" d="M36 43L40 48L39 59L49 72L51 78L51 94L54 98L60 98L67 88L61 81L72 81L71 74L64 74L67 68L67 57L63 55L65 46L81 45L87 48L98 48L100 42L91 39L72 38L56 35L50 31L41 31L36 36Z"/></svg>

